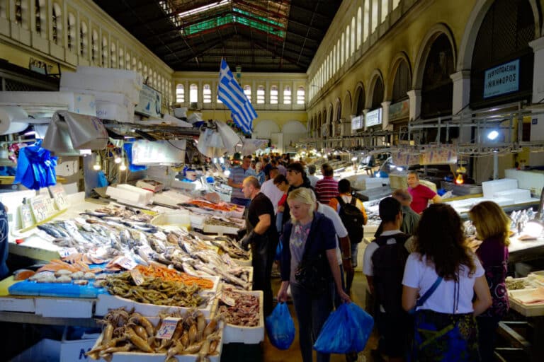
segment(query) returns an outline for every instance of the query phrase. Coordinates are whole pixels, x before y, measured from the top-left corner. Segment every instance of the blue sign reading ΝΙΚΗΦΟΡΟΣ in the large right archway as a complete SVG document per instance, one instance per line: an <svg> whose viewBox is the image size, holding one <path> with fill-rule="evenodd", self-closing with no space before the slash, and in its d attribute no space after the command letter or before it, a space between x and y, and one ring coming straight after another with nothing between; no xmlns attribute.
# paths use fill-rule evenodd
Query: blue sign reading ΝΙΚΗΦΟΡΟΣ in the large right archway
<svg viewBox="0 0 544 362"><path fill-rule="evenodd" d="M487 69L484 98L519 91L519 59Z"/></svg>

